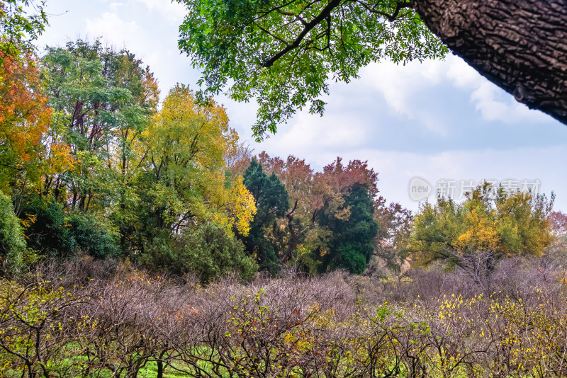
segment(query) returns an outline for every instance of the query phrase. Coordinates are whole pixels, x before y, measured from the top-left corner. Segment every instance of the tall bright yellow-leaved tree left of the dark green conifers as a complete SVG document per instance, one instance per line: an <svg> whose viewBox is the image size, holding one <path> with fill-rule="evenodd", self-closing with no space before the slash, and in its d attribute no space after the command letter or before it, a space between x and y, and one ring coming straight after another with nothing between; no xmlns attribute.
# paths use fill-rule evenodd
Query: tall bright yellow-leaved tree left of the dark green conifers
<svg viewBox="0 0 567 378"><path fill-rule="evenodd" d="M254 198L225 164L237 142L223 106L199 105L188 87L172 88L140 142L145 223L171 234L206 222L247 234Z"/></svg>

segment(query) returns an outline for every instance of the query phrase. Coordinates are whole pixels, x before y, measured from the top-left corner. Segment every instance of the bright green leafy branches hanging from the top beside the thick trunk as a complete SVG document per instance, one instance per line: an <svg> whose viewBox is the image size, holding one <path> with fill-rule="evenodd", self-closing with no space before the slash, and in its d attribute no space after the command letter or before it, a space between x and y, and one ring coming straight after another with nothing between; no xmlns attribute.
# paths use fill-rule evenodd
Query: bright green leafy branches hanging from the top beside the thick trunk
<svg viewBox="0 0 567 378"><path fill-rule="evenodd" d="M356 78L371 62L447 52L409 2L177 1L187 8L179 47L203 69L204 94L230 81L231 98L257 98L259 139L303 107L322 114L330 81Z"/></svg>

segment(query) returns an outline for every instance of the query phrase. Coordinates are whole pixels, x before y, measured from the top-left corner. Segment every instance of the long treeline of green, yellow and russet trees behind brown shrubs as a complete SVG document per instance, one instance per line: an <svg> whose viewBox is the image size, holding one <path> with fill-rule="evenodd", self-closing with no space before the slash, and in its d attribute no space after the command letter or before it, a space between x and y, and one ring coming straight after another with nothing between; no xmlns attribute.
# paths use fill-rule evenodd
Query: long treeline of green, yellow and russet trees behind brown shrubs
<svg viewBox="0 0 567 378"><path fill-rule="evenodd" d="M87 254L202 282L286 267L400 278L408 261L490 271L558 240L542 197L489 198L485 186L414 216L378 197L367 161L337 157L318 171L297 156L253 156L213 98L177 84L160 103L150 67L127 49L77 40L41 59L26 51L2 61L0 190L30 265ZM214 248L189 243L205 235Z"/></svg>

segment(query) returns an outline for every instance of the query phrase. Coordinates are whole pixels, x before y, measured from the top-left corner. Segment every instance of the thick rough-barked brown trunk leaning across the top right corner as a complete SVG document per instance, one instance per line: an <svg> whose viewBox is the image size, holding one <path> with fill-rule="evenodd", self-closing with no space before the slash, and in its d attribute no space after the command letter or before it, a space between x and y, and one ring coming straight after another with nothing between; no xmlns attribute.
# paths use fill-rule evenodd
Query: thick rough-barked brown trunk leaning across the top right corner
<svg viewBox="0 0 567 378"><path fill-rule="evenodd" d="M433 33L529 108L567 124L567 0L415 0Z"/></svg>

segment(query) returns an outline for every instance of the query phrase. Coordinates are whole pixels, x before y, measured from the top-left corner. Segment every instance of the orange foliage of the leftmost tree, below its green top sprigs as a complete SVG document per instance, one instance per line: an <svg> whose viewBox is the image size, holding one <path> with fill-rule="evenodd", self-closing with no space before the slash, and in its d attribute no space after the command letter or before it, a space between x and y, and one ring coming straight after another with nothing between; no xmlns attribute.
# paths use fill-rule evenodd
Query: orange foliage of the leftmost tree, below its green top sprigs
<svg viewBox="0 0 567 378"><path fill-rule="evenodd" d="M16 200L16 213L29 188L69 161L64 146L50 138L52 110L38 62L30 53L7 55L0 65L0 190Z"/></svg>

